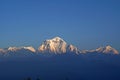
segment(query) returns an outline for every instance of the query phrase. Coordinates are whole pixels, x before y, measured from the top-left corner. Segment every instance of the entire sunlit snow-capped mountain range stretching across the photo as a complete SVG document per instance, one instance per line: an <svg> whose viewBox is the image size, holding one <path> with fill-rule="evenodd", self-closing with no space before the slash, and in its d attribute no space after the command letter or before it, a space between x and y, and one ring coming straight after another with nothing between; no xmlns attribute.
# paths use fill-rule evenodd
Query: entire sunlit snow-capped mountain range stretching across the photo
<svg viewBox="0 0 120 80"><path fill-rule="evenodd" d="M111 46L99 47L95 50L80 50L72 44L67 44L60 37L54 37L53 39L47 39L39 46L38 49L33 48L32 46L28 47L8 47L0 48L0 55L7 54L66 54L66 53L75 53L75 54L87 54L87 53L103 53L103 54L119 54L119 52L112 48Z"/></svg>

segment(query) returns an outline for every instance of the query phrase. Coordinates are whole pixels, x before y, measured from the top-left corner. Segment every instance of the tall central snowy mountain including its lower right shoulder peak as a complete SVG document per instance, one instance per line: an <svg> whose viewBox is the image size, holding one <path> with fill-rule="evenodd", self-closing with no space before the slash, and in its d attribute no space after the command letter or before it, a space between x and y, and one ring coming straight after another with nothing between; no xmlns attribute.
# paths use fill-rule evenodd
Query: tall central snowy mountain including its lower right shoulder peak
<svg viewBox="0 0 120 80"><path fill-rule="evenodd" d="M68 45L62 38L55 37L53 39L45 40L41 46L38 48L39 52L50 52L50 53L66 53L75 52L78 53L79 50L73 45Z"/></svg>

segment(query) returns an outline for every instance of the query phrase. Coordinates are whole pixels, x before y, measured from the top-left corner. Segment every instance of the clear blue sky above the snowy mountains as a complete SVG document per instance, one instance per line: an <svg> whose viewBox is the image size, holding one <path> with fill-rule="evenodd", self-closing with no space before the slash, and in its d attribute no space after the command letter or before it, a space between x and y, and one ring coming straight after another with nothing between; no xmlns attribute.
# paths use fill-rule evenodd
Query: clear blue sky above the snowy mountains
<svg viewBox="0 0 120 80"><path fill-rule="evenodd" d="M0 0L0 47L60 36L80 49L120 51L120 0Z"/></svg>

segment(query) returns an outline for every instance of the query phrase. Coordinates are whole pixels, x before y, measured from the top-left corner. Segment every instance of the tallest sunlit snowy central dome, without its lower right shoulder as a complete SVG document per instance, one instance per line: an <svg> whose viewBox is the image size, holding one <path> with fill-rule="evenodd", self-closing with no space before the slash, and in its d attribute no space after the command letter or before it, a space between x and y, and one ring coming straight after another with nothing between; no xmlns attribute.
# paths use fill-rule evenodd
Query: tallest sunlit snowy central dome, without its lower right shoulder
<svg viewBox="0 0 120 80"><path fill-rule="evenodd" d="M45 40L38 48L40 52L66 53L67 43L60 37Z"/></svg>

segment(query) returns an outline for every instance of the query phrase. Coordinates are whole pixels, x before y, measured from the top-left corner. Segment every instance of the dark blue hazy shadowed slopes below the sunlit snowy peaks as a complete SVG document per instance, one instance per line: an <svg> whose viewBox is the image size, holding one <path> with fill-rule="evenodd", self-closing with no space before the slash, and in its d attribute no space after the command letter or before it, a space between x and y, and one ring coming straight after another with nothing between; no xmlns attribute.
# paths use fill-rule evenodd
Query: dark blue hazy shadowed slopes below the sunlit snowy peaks
<svg viewBox="0 0 120 80"><path fill-rule="evenodd" d="M1 57L0 80L120 80L120 55L67 53Z"/></svg>

